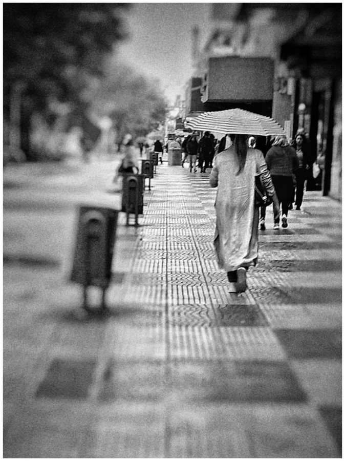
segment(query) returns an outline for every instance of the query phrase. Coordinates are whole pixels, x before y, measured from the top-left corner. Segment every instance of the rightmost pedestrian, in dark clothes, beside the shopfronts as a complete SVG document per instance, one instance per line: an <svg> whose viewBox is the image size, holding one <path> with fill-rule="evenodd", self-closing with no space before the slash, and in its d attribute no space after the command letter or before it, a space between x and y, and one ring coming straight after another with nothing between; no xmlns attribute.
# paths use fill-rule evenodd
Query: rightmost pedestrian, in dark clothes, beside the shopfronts
<svg viewBox="0 0 345 461"><path fill-rule="evenodd" d="M297 133L293 141L294 148L298 157L298 168L295 171L296 176L296 209L300 209L303 201L304 184L308 179L311 167L308 141L303 133Z"/></svg>

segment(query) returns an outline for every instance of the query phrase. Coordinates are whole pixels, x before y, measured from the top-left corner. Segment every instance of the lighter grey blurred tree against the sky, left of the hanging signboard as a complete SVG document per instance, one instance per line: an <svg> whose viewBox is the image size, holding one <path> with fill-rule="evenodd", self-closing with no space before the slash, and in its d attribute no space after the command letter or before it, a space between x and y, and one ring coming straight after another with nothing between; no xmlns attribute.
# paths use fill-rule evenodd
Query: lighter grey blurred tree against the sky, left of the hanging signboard
<svg viewBox="0 0 345 461"><path fill-rule="evenodd" d="M165 121L167 103L159 82L121 62L108 67L102 85L89 94L98 116L113 120L117 139L145 136Z"/></svg>

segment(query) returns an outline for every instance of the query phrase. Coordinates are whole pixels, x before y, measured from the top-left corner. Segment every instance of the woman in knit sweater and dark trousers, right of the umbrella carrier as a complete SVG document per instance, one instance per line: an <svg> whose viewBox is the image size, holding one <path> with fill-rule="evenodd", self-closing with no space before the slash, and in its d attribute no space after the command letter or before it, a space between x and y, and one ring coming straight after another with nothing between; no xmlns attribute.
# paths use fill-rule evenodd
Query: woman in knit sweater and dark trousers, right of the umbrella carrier
<svg viewBox="0 0 345 461"><path fill-rule="evenodd" d="M298 168L298 158L286 136L276 136L271 149L266 154L267 167L278 197L278 207L273 203L274 226L279 229L279 214L282 204L282 227L288 227L288 213L293 189L292 175Z"/></svg>

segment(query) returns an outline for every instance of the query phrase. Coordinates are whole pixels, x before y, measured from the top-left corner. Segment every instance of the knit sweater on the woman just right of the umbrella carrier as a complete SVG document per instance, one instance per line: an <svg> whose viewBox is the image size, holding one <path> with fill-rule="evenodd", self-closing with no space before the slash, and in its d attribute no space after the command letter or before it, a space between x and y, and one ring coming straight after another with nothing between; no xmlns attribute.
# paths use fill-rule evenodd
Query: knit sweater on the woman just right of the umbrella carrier
<svg viewBox="0 0 345 461"><path fill-rule="evenodd" d="M271 176L291 176L298 168L298 157L291 145L273 145L265 160Z"/></svg>

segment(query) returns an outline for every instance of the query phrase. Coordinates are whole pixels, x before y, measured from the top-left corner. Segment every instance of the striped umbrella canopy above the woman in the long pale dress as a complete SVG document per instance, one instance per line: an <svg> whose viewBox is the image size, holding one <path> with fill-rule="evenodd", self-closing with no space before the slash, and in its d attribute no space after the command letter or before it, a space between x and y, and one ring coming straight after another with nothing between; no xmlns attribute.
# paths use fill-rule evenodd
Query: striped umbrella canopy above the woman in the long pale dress
<svg viewBox="0 0 345 461"><path fill-rule="evenodd" d="M203 112L198 117L190 120L186 126L192 130L215 131L224 134L285 135L281 125L273 118L254 114L243 109Z"/></svg>

